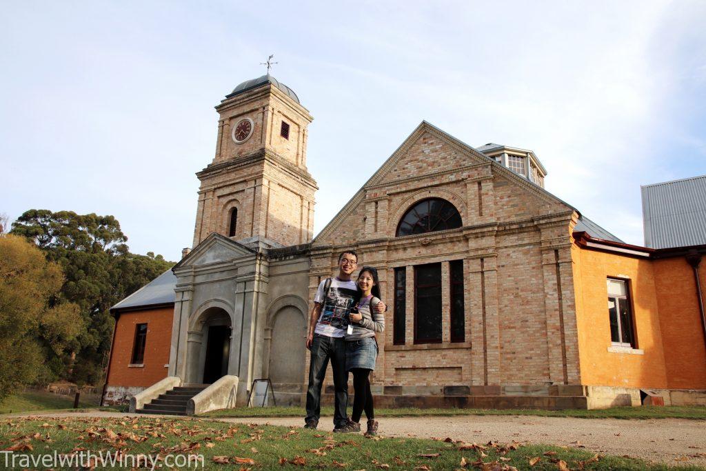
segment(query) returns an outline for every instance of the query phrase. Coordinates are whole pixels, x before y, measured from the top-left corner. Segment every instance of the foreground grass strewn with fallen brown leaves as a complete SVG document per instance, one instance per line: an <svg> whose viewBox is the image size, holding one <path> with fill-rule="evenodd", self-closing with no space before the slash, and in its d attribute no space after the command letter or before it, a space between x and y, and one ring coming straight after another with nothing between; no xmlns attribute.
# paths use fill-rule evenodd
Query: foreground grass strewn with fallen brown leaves
<svg viewBox="0 0 706 471"><path fill-rule="evenodd" d="M578 448L521 443L476 445L425 439L369 439L361 434L330 434L299 428L227 424L208 419L0 419L0 450L8 448L15 451L16 455L35 457L53 454L54 451L67 457L72 453L83 453L85 456L88 451L110 452L113 455L143 453L152 458L157 455L165 457L169 453L203 455L206 469L222 470L297 467L342 468L350 471L450 470L460 468L464 463L469 468L498 471L512 469L510 466L518 470L667 469L664 465L650 465L632 458L599 456ZM5 460L5 456L0 455L0 460ZM54 464L52 466L54 469L68 469L66 464L64 467ZM102 469L100 462L92 464L96 465L97 469ZM166 468L174 463L164 461L163 464ZM0 467L2 466L6 466L6 463L0 463ZM24 466L24 463L18 464L18 467ZM30 464L27 467L39 466Z"/></svg>

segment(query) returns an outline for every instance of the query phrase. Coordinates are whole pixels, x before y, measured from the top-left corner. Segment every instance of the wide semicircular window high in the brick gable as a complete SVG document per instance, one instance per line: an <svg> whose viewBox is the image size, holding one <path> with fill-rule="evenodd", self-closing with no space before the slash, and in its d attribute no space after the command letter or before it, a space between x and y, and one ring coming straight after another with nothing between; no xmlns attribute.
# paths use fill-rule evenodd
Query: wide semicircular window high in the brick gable
<svg viewBox="0 0 706 471"><path fill-rule="evenodd" d="M461 225L461 215L453 204L441 198L429 198L415 203L402 216L397 237L456 229Z"/></svg>

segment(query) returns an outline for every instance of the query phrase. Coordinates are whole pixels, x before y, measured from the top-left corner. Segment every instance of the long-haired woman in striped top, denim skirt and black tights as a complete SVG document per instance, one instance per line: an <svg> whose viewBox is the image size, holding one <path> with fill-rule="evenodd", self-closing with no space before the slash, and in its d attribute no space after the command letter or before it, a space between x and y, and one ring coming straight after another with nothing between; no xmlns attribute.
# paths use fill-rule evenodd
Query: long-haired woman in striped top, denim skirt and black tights
<svg viewBox="0 0 706 471"><path fill-rule="evenodd" d="M346 371L353 374L353 413L351 420L340 431L360 431L360 417L365 410L368 418L367 435L378 433L378 422L373 412L373 395L370 391L370 372L375 369L378 342L375 334L385 330L383 313L373 312L380 302L378 270L364 266L357 280L358 299L351 310L350 325L346 335Z"/></svg>

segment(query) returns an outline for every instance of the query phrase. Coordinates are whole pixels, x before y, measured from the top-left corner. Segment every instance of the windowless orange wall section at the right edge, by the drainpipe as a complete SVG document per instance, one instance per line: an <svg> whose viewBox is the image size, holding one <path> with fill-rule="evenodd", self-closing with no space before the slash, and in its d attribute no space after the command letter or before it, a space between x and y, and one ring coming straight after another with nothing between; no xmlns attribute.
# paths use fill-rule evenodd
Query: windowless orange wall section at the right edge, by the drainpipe
<svg viewBox="0 0 706 471"><path fill-rule="evenodd" d="M652 263L669 388L706 389L706 345L693 269L683 256ZM706 290L706 260L699 278Z"/></svg>

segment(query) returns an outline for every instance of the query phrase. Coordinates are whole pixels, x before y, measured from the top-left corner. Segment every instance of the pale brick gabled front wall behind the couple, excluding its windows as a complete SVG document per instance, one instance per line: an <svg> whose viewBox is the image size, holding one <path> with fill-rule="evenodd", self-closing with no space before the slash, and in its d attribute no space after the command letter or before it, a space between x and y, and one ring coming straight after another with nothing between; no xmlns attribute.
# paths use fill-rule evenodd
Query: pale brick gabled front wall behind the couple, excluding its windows
<svg viewBox="0 0 706 471"><path fill-rule="evenodd" d="M400 218L424 198L453 203L464 227L395 237ZM310 299L318 280L335 273L337 254L354 247L359 250L359 265L378 268L383 300L390 306L385 333L378 335L381 352L373 382L578 383L575 310L569 293L573 283L570 270L562 268L570 263L572 213L556 198L423 124L317 237ZM556 262L555 251L561 257ZM465 271L465 342L455 343L450 342L450 290L445 285L452 260L464 260ZM444 283L442 342L414 345L412 267L438 262ZM400 266L407 266L407 332L405 345L393 345L393 270ZM546 292L552 289L555 294L549 302L554 304L548 307ZM561 340L559 322L554 322L559 311L566 318Z"/></svg>

